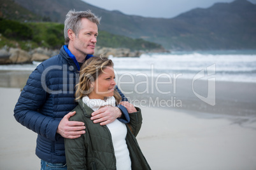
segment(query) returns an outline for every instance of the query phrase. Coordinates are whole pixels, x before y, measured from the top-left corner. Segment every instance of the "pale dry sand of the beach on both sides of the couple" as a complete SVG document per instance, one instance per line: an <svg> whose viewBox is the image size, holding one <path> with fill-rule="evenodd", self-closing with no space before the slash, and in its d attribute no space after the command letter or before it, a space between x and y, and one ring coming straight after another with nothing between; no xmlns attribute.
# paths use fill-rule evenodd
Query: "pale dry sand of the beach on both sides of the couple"
<svg viewBox="0 0 256 170"><path fill-rule="evenodd" d="M18 124L13 108L20 88L0 88L1 169L39 169L36 133ZM152 169L256 169L256 122L250 127L188 110L141 107L138 142Z"/></svg>

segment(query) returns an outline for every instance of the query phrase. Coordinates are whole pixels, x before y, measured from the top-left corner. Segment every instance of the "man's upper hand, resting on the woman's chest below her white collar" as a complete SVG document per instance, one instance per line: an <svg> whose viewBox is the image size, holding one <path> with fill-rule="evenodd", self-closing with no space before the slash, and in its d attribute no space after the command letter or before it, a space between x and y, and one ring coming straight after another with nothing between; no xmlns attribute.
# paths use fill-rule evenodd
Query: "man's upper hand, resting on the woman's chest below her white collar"
<svg viewBox="0 0 256 170"><path fill-rule="evenodd" d="M92 113L91 120L94 120L94 123L101 122L101 126L109 124L118 117L121 117L122 112L118 107L112 107L112 106L104 106L99 108L99 110L96 110Z"/></svg>

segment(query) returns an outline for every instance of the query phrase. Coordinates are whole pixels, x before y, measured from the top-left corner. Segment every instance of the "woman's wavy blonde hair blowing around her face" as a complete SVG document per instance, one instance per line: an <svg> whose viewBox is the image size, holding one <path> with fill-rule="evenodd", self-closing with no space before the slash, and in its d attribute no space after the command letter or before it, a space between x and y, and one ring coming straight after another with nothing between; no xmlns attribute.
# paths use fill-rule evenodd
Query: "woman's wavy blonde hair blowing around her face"
<svg viewBox="0 0 256 170"><path fill-rule="evenodd" d="M83 63L80 69L79 82L76 84L76 100L92 92L93 88L91 88L90 84L96 81L99 75L103 74L103 70L106 67L114 67L114 63L112 60L102 56L91 57ZM122 99L117 89L114 91L114 97L117 104Z"/></svg>

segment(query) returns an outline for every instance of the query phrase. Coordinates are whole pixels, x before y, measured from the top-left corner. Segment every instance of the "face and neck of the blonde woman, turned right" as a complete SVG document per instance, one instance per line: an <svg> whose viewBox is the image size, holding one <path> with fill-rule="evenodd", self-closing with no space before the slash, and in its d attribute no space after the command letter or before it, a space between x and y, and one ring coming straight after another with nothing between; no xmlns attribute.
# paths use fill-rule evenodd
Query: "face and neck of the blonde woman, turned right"
<svg viewBox="0 0 256 170"><path fill-rule="evenodd" d="M96 81L92 82L93 91L88 95L90 99L101 99L113 96L115 90L115 73L113 67L106 67Z"/></svg>

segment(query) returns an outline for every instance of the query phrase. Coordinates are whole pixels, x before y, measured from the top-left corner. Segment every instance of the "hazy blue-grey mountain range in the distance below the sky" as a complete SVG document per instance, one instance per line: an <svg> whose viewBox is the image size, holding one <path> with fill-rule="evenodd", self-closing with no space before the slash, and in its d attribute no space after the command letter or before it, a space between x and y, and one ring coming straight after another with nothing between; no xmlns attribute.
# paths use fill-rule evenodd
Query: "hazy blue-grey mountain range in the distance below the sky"
<svg viewBox="0 0 256 170"><path fill-rule="evenodd" d="M100 30L157 42L167 49L256 49L256 5L246 0L196 8L175 18L125 15L80 0L15 0L15 3L61 23L71 9L90 9L102 18Z"/></svg>

